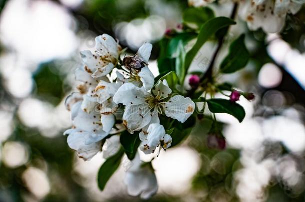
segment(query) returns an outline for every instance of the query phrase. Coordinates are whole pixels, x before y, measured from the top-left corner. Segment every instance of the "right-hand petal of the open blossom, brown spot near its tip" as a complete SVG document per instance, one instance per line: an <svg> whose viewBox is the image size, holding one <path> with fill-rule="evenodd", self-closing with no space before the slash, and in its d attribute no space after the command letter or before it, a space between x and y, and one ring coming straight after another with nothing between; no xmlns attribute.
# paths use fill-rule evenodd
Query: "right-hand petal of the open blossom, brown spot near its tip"
<svg viewBox="0 0 305 202"><path fill-rule="evenodd" d="M165 115L183 123L194 112L195 103L189 97L175 95L163 105Z"/></svg>

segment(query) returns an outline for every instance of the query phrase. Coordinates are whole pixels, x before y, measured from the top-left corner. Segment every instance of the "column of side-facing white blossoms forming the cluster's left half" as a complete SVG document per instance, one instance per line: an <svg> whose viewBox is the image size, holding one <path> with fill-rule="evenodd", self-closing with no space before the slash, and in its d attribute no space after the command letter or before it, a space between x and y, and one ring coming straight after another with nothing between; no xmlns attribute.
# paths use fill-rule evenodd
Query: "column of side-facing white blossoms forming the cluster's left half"
<svg viewBox="0 0 305 202"><path fill-rule="evenodd" d="M115 116L119 117L118 105L111 97L118 84L106 77L118 62L121 47L109 35L95 38L96 50L81 51L83 66L75 71L80 84L66 98L65 106L71 111L72 128L64 132L67 143L77 151L79 158L91 159L101 148L101 140L112 130Z"/></svg>

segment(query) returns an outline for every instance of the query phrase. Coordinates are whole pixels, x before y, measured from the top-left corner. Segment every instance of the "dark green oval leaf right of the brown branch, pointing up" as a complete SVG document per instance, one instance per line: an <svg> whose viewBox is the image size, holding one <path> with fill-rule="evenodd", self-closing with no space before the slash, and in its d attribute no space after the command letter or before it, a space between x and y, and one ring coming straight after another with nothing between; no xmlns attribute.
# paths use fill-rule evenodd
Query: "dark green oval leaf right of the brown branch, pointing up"
<svg viewBox="0 0 305 202"><path fill-rule="evenodd" d="M228 55L220 64L220 71L222 73L233 73L243 68L249 57L249 52L244 45L244 34L241 34L231 43Z"/></svg>

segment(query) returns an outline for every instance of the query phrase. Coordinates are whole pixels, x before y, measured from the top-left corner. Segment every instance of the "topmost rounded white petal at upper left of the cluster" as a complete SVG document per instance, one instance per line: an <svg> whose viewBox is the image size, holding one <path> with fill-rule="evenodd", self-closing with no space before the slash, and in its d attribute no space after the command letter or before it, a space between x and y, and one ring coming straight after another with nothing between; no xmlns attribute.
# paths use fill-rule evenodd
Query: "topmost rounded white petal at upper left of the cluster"
<svg viewBox="0 0 305 202"><path fill-rule="evenodd" d="M95 48L101 55L110 58L118 58L118 46L116 41L108 34L95 37Z"/></svg>

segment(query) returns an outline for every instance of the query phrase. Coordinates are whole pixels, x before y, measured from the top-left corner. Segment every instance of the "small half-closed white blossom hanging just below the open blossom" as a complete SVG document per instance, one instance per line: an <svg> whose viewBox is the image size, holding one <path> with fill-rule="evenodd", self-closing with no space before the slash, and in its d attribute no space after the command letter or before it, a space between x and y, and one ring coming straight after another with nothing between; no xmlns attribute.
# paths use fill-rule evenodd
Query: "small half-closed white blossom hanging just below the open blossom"
<svg viewBox="0 0 305 202"><path fill-rule="evenodd" d="M142 141L140 150L145 154L150 154L155 151L157 146L167 149L171 145L170 135L165 134L164 127L160 124L150 124L147 132L141 131L139 138Z"/></svg>

